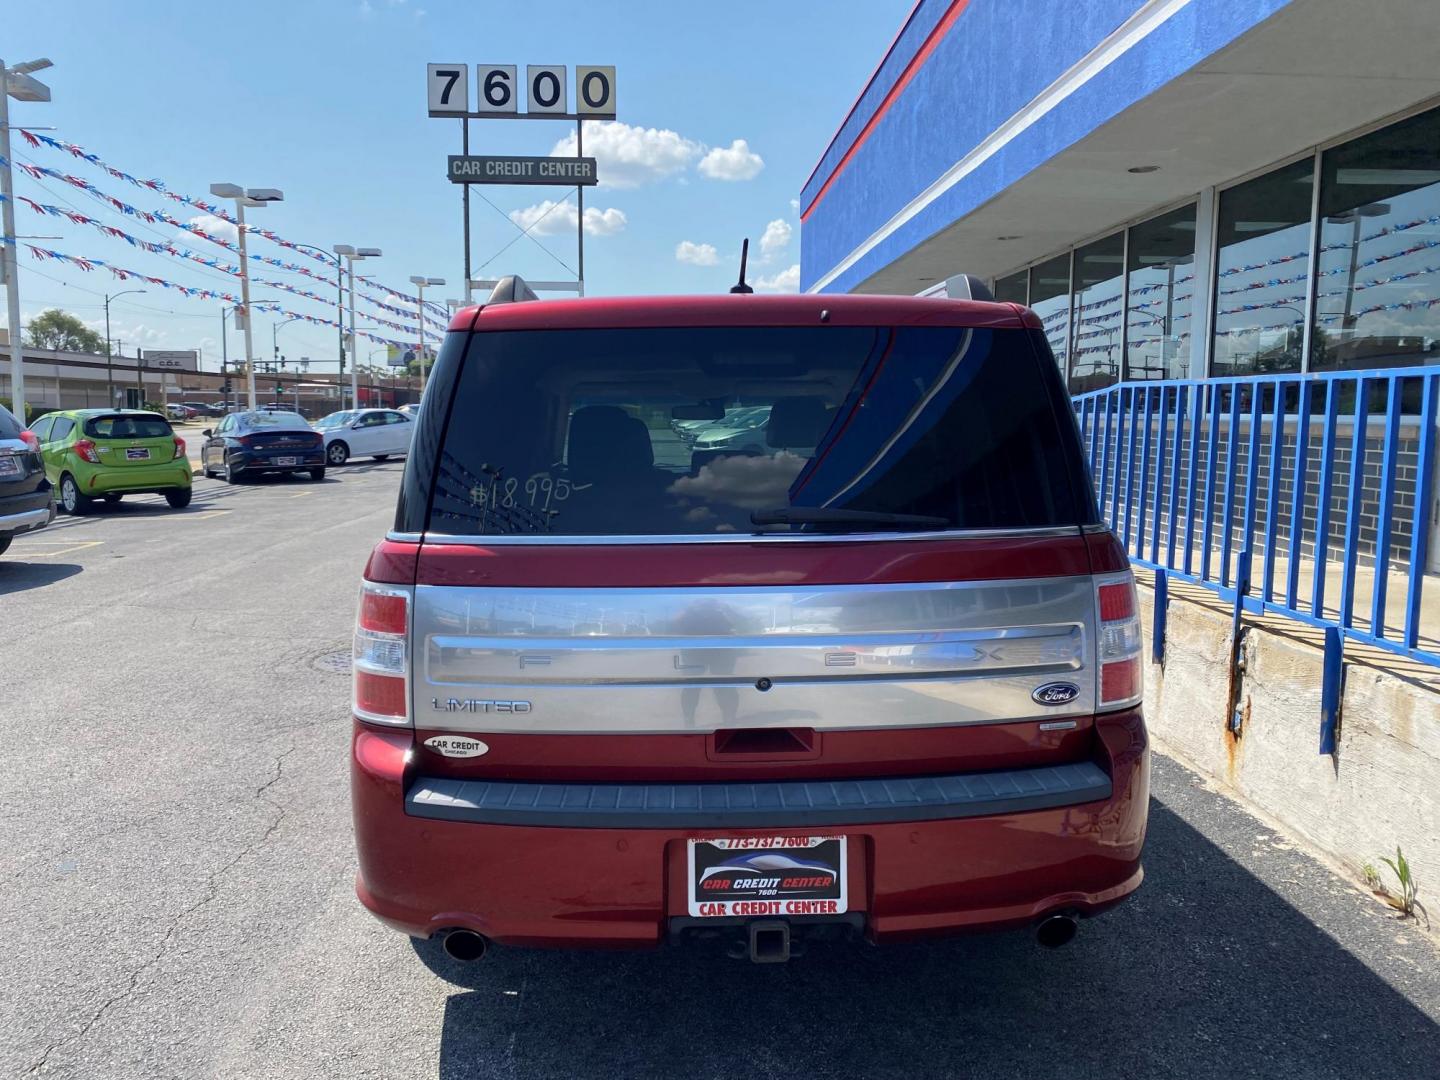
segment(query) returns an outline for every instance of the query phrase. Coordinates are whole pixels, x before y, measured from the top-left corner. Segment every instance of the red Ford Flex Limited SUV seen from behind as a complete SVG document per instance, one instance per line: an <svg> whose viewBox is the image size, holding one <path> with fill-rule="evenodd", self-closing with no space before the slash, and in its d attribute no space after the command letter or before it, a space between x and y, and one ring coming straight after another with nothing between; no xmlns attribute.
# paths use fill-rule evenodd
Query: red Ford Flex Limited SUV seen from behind
<svg viewBox="0 0 1440 1080"><path fill-rule="evenodd" d="M366 567L366 907L459 959L779 960L1060 945L1139 886L1135 586L1032 312L527 294L451 323Z"/></svg>

